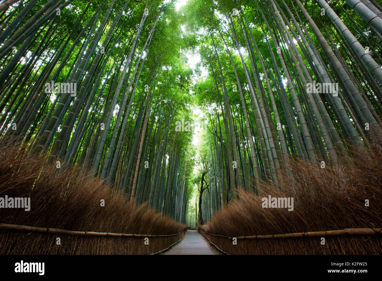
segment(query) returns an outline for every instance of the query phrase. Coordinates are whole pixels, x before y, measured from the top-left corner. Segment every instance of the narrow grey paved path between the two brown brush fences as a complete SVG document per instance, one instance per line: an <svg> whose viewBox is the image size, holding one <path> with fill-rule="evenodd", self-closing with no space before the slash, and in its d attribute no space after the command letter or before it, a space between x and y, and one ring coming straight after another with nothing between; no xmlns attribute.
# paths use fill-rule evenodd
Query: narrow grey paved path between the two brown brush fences
<svg viewBox="0 0 382 281"><path fill-rule="evenodd" d="M188 230L183 240L163 255L219 255L196 230Z"/></svg>

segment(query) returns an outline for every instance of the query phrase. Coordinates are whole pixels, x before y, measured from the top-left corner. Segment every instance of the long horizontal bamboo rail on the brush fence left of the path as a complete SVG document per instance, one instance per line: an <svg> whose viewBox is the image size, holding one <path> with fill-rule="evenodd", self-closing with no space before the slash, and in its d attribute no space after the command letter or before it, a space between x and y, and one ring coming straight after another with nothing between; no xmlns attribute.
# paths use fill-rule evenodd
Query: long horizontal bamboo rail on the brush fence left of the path
<svg viewBox="0 0 382 281"><path fill-rule="evenodd" d="M73 231L50 227L22 226L18 224L0 223L0 229L15 230L15 231L31 231L44 233L68 234L76 236L109 236L109 237L167 237L181 234L184 231L175 234L152 235L152 234L125 234L125 233L110 233L110 232L94 232L94 231Z"/></svg>

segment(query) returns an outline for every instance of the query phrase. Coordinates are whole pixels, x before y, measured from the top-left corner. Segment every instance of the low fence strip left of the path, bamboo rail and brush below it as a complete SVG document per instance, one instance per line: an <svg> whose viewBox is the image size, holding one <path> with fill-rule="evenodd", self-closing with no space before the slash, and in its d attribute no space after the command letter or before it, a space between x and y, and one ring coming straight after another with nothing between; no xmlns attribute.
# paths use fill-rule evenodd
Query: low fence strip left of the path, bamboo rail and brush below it
<svg viewBox="0 0 382 281"><path fill-rule="evenodd" d="M166 235L126 234L0 223L0 252L1 254L155 255L180 242L185 231L186 229ZM14 232L19 234L15 235ZM56 245L57 235L52 237L53 234L58 234L62 239L60 245ZM146 238L151 238L148 245L144 243Z"/></svg>

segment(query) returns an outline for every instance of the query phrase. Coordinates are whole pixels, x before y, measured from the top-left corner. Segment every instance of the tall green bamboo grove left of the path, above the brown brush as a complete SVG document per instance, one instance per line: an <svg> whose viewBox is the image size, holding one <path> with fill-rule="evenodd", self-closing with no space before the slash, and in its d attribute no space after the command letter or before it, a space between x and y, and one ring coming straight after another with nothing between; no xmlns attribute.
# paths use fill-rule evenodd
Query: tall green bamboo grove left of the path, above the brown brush
<svg viewBox="0 0 382 281"><path fill-rule="evenodd" d="M188 112L191 72L169 47L184 44L173 4L9 2L0 4L2 139L185 221L191 134L176 135L173 120Z"/></svg>

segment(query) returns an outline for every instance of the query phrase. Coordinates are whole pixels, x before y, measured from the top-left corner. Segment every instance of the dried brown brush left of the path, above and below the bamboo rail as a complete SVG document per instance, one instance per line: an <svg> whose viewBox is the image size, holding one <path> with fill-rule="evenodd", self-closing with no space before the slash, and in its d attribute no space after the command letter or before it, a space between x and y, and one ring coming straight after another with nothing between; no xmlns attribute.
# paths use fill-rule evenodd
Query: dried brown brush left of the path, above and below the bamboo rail
<svg viewBox="0 0 382 281"><path fill-rule="evenodd" d="M9 143L9 142L8 142ZM31 210L0 209L0 222L75 231L175 234L186 226L147 206L127 203L102 180L76 169L57 173L45 156L26 155L25 146L0 143L0 197L30 197ZM105 206L100 206L100 200ZM61 245L56 245L60 237ZM180 240L169 237L94 237L0 230L0 254L150 254Z"/></svg>

